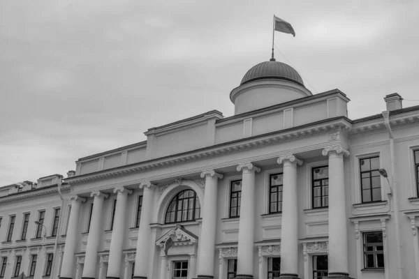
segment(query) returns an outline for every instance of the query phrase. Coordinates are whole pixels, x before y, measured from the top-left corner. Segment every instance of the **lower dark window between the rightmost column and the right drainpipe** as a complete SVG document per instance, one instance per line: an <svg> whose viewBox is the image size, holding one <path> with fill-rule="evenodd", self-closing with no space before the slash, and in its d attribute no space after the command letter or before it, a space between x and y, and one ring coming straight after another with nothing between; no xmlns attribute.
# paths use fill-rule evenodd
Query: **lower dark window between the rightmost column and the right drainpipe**
<svg viewBox="0 0 419 279"><path fill-rule="evenodd" d="M383 233L364 233L364 266L365 269L384 268Z"/></svg>

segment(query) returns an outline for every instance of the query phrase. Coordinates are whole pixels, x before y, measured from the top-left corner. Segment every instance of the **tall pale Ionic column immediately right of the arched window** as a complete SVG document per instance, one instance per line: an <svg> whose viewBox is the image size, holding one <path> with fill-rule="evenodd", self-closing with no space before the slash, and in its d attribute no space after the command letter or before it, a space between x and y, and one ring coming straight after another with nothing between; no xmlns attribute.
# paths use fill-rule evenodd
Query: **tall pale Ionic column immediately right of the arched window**
<svg viewBox="0 0 419 279"><path fill-rule="evenodd" d="M201 172L200 176L205 177L205 197L200 234L202 241L199 242L198 278L211 279L214 278L217 181L223 178L223 174L214 172L214 169L207 169Z"/></svg>

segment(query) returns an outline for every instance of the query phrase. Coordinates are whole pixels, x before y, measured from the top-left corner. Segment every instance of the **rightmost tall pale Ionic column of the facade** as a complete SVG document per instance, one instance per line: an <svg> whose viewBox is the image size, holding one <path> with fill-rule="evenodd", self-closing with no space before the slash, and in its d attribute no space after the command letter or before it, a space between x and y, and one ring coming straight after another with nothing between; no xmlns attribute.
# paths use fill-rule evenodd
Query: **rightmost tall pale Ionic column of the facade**
<svg viewBox="0 0 419 279"><path fill-rule="evenodd" d="M344 155L341 146L328 146L322 151L329 156L329 278L349 278Z"/></svg>

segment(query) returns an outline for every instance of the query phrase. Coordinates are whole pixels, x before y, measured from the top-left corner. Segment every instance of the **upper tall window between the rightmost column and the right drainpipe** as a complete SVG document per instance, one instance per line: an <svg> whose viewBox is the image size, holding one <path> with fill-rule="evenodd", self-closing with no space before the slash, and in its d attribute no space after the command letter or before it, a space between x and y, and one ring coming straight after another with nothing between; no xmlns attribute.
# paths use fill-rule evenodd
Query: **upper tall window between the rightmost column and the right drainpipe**
<svg viewBox="0 0 419 279"><path fill-rule="evenodd" d="M380 158L360 159L362 203L381 202Z"/></svg>

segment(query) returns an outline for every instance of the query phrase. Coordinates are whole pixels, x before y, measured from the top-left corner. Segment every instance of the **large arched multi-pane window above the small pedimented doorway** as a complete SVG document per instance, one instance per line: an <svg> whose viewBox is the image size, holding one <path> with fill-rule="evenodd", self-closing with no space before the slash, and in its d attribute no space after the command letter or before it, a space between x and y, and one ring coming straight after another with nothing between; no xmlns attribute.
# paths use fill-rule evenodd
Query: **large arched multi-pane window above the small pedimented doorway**
<svg viewBox="0 0 419 279"><path fill-rule="evenodd" d="M183 190L172 199L165 223L178 223L200 218L200 203L193 190Z"/></svg>

